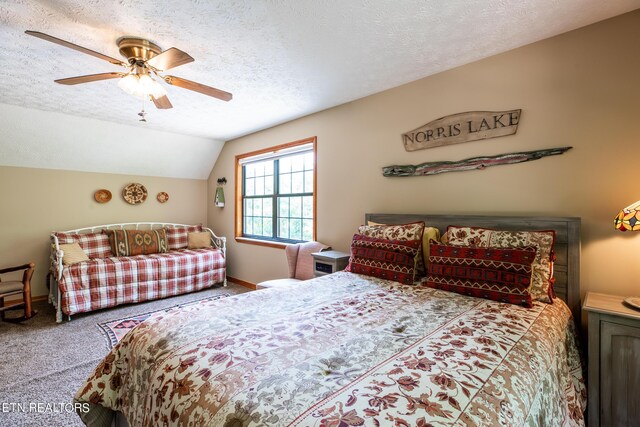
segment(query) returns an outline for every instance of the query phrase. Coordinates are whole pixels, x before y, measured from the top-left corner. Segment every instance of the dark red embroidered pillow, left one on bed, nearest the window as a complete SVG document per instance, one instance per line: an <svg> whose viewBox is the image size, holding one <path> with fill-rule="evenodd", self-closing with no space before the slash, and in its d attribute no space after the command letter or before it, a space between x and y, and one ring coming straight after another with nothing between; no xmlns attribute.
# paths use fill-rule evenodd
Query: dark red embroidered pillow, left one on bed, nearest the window
<svg viewBox="0 0 640 427"><path fill-rule="evenodd" d="M415 257L420 245L421 240L387 240L355 234L345 271L410 285L416 279Z"/></svg>

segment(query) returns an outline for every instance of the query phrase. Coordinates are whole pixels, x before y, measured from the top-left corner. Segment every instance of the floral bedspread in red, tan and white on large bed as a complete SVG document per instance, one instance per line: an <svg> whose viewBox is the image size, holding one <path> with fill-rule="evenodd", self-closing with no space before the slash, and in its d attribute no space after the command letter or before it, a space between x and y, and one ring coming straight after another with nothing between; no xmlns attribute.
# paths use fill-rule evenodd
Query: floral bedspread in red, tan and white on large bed
<svg viewBox="0 0 640 427"><path fill-rule="evenodd" d="M573 426L569 309L340 272L154 315L75 397L131 426Z"/></svg>

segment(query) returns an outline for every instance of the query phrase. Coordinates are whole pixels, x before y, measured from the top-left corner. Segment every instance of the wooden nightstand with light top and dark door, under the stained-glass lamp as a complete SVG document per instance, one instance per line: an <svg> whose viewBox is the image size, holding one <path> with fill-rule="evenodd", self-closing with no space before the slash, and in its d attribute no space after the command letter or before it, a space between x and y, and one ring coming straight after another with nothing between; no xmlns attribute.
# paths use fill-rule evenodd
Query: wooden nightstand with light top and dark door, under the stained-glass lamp
<svg viewBox="0 0 640 427"><path fill-rule="evenodd" d="M640 311L624 298L589 292L589 426L640 421Z"/></svg>

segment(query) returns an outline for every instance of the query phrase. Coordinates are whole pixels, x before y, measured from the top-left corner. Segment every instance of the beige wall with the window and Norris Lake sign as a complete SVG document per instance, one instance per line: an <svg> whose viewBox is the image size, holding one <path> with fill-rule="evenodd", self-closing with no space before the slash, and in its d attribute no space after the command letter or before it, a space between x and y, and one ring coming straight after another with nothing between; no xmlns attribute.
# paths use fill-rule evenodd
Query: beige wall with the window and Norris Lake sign
<svg viewBox="0 0 640 427"><path fill-rule="evenodd" d="M282 250L234 235L234 156L318 137L318 240L347 250L365 212L582 217L582 290L640 294L640 233L612 219L640 199L640 11L227 142L209 178L227 207L208 223L230 237L229 275L286 276ZM455 55L455 52L451 52ZM393 67L393 64L389 64ZM514 136L406 152L400 134L441 116L522 108ZM384 178L383 166L559 146L562 156L437 176ZM635 188L634 188L635 187Z"/></svg>

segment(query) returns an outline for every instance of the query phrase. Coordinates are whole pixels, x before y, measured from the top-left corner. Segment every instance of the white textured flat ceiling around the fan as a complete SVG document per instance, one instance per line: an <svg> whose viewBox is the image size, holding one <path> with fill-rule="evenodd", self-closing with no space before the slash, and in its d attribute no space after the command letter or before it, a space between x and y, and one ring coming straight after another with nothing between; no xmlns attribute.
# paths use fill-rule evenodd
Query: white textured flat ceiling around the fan
<svg viewBox="0 0 640 427"><path fill-rule="evenodd" d="M639 0L2 0L0 103L228 140L640 7ZM233 93L222 102L166 86L174 108L145 105L119 71L24 34L41 31L120 58L147 38L195 62L170 74ZM1 142L1 141L0 141Z"/></svg>

